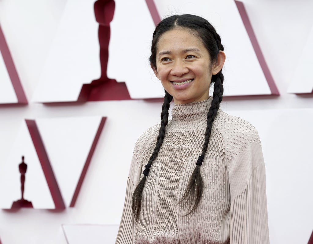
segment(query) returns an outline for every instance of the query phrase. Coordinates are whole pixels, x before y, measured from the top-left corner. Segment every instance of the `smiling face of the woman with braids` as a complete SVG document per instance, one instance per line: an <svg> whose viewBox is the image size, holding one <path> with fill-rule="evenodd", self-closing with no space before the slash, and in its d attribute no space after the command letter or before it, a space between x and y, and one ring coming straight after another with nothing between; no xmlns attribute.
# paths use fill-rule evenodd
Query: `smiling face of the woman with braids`
<svg viewBox="0 0 313 244"><path fill-rule="evenodd" d="M208 99L212 72L216 74L208 50L188 29L160 36L154 73L175 104Z"/></svg>

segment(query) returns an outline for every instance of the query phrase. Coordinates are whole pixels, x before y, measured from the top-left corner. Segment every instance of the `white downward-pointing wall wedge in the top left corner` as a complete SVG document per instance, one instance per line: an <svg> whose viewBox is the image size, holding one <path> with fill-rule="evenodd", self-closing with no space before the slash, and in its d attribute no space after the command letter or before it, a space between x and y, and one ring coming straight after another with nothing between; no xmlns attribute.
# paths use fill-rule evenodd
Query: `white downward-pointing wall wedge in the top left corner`
<svg viewBox="0 0 313 244"><path fill-rule="evenodd" d="M28 98L37 86L66 2L0 1L0 24Z"/></svg>

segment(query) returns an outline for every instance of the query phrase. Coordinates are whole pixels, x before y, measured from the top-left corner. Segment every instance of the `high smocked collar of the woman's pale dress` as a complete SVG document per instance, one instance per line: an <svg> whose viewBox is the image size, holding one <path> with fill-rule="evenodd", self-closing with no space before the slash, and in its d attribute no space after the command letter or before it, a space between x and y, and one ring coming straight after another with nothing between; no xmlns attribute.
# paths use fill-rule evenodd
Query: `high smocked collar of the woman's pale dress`
<svg viewBox="0 0 313 244"><path fill-rule="evenodd" d="M191 121L206 119L207 113L211 106L212 97L208 100L192 102L186 104L175 104L172 109L172 120L174 121Z"/></svg>

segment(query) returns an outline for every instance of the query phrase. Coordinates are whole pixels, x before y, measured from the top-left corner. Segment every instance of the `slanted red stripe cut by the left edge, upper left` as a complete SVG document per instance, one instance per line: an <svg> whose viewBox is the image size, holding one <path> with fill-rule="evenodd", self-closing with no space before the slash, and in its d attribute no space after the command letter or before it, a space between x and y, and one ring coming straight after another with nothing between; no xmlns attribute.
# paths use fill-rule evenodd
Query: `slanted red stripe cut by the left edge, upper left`
<svg viewBox="0 0 313 244"><path fill-rule="evenodd" d="M21 81L18 77L18 73L15 69L15 65L14 65L8 44L5 40L3 31L1 29L1 26L0 26L0 50L2 53L3 60L4 60L4 64L8 70L8 74L9 74L10 80L12 82L13 89L14 89L16 97L18 99L18 103L19 104L28 104L26 95L25 95L24 90L23 90L23 86L22 86Z"/></svg>

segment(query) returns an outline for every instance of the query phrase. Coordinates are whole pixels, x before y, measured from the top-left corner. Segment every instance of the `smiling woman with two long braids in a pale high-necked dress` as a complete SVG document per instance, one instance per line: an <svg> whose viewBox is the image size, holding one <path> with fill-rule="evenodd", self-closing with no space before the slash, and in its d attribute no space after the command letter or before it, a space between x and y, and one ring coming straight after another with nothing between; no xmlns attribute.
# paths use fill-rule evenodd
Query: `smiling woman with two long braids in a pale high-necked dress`
<svg viewBox="0 0 313 244"><path fill-rule="evenodd" d="M161 127L136 143L116 243L269 243L258 133L219 110L224 61L207 20L175 15L156 26L150 62L165 89Z"/></svg>

